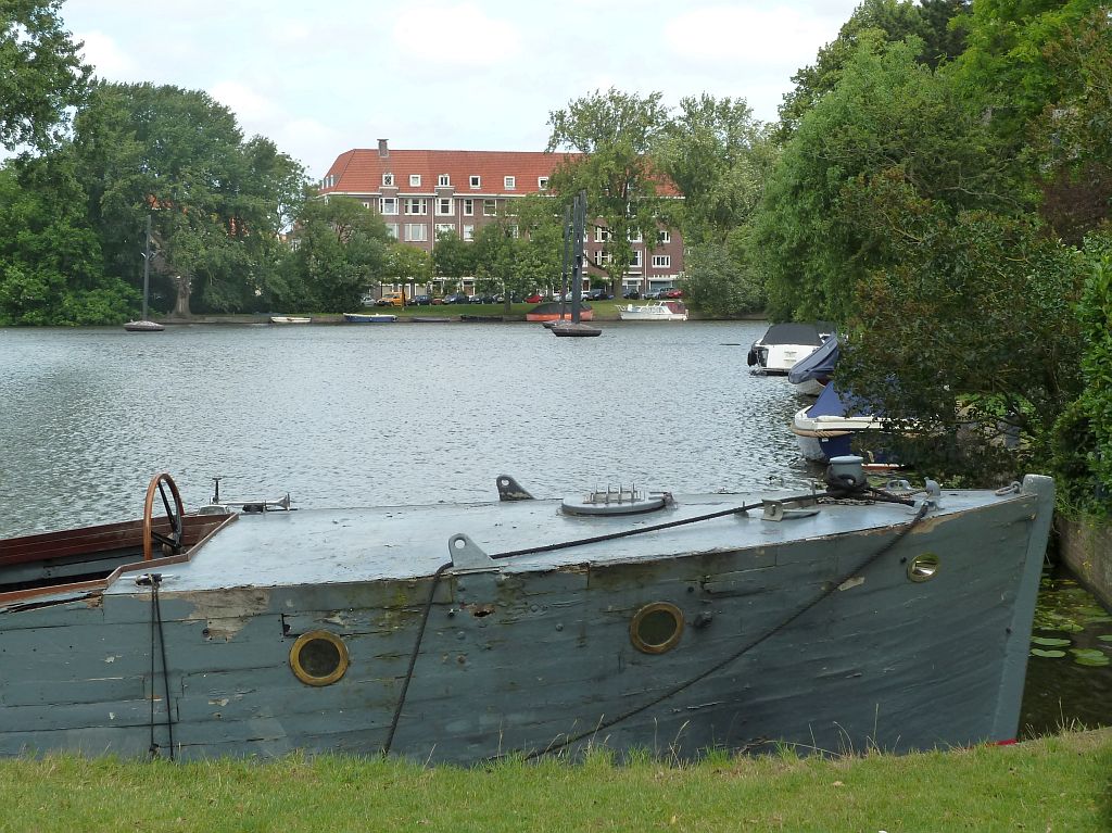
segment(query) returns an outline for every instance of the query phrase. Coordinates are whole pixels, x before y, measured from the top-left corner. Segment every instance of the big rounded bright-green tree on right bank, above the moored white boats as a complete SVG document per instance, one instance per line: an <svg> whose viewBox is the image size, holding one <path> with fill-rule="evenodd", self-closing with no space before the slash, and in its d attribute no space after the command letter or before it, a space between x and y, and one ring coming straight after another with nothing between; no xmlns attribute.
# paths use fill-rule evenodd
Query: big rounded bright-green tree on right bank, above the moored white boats
<svg viewBox="0 0 1112 833"><path fill-rule="evenodd" d="M784 148L754 218L774 318L846 321L854 285L895 262L892 241L907 234L903 217L919 200L951 212L1022 208L980 113L920 50L915 39L858 46ZM893 210L863 219L862 204Z"/></svg>

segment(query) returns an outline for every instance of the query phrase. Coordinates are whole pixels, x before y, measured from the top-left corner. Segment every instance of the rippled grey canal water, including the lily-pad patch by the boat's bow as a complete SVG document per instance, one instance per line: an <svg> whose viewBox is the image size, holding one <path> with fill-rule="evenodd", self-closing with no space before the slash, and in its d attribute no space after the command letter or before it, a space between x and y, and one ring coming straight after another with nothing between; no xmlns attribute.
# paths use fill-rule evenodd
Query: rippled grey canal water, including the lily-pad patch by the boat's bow
<svg viewBox="0 0 1112 833"><path fill-rule="evenodd" d="M765 326L0 329L0 537L135 517L158 472L187 507L217 476L302 507L492 500L499 474L546 497L803 487L805 400L745 361ZM1044 581L1029 734L1112 725L1112 622L1071 581Z"/></svg>

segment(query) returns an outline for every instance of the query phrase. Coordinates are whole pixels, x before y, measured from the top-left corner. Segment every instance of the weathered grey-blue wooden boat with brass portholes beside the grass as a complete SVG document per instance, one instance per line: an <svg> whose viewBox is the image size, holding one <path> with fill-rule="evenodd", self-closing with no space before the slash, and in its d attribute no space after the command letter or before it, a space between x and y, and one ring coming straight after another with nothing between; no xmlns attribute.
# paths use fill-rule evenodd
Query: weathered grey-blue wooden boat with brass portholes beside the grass
<svg viewBox="0 0 1112 833"><path fill-rule="evenodd" d="M828 483L187 515L162 474L135 522L0 541L0 754L1014 738L1052 480Z"/></svg>

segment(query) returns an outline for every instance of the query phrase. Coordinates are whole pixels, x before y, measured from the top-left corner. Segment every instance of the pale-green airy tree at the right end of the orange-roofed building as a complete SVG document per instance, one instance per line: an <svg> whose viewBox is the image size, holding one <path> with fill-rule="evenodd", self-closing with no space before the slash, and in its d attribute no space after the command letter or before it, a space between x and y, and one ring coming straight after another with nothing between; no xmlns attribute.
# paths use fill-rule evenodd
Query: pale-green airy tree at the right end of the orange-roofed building
<svg viewBox="0 0 1112 833"><path fill-rule="evenodd" d="M684 197L684 241L723 242L759 205L778 151L744 99L684 98L653 158Z"/></svg>

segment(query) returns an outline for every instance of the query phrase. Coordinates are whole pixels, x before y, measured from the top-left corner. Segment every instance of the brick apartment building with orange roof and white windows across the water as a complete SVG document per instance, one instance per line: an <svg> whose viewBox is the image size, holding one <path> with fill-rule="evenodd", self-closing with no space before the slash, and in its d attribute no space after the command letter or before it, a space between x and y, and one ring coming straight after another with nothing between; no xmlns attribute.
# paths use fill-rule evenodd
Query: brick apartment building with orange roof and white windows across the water
<svg viewBox="0 0 1112 833"><path fill-rule="evenodd" d="M534 151L391 150L379 139L375 149L340 153L319 190L361 201L383 216L395 239L431 251L440 232L471 240L513 200L544 192L562 158ZM608 258L608 234L605 227L592 227L584 245L596 285ZM673 286L684 266L679 234L661 229L656 240L633 245L624 287L652 291Z"/></svg>

